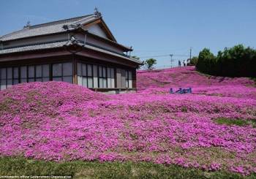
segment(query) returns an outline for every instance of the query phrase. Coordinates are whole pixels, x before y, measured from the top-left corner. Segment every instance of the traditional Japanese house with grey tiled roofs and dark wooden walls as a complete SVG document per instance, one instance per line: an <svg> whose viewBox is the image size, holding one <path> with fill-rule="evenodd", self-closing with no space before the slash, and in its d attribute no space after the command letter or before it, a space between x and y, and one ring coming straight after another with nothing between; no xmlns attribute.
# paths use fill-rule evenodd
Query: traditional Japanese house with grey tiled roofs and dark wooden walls
<svg viewBox="0 0 256 179"><path fill-rule="evenodd" d="M18 83L64 81L95 91L136 90L132 47L116 42L94 14L30 26L0 37L1 90Z"/></svg>

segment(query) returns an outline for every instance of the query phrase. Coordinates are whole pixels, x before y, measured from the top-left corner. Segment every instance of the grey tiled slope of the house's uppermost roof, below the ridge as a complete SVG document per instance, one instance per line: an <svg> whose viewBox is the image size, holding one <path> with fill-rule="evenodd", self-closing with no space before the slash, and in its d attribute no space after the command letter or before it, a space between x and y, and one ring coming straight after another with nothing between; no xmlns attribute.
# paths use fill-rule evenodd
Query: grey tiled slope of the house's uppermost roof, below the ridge
<svg viewBox="0 0 256 179"><path fill-rule="evenodd" d="M25 37L34 37L45 34L54 34L62 31L66 31L64 25L77 25L82 23L89 23L91 20L99 18L97 15L84 15L77 18L69 18L65 20L58 20L50 23L42 23L35 26L29 26L21 29L20 31L14 31L10 34L6 34L0 37L0 41L7 41L12 39L20 39Z"/></svg>

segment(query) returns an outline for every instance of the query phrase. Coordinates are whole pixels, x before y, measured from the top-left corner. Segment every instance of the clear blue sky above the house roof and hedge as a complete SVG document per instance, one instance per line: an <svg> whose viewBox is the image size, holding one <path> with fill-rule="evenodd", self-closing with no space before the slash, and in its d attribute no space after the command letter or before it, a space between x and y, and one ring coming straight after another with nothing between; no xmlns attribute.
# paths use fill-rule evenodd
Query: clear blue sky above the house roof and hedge
<svg viewBox="0 0 256 179"><path fill-rule="evenodd" d="M117 41L134 48L132 55L159 56L157 66L213 53L237 44L256 47L255 0L1 0L0 35L31 24L72 18L98 7Z"/></svg>

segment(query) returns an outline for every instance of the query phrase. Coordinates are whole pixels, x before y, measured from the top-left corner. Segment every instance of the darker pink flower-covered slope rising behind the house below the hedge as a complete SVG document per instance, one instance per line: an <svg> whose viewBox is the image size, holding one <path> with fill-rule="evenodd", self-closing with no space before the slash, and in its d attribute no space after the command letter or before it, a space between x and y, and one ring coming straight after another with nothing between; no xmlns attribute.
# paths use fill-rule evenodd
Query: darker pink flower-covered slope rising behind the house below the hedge
<svg viewBox="0 0 256 179"><path fill-rule="evenodd" d="M172 69L139 70L138 88L152 87L198 87L212 85L253 85L247 77L214 77L202 75L195 70L195 66L176 67Z"/></svg>

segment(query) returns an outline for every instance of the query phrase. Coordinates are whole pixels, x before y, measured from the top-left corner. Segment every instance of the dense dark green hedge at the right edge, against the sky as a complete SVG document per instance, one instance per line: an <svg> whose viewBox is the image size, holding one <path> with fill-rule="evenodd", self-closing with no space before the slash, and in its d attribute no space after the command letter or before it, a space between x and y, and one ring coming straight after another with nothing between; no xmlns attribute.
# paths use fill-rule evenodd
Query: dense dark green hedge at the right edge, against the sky
<svg viewBox="0 0 256 179"><path fill-rule="evenodd" d="M208 75L256 77L256 50L244 45L226 47L217 56L204 48L195 61L197 70Z"/></svg>

